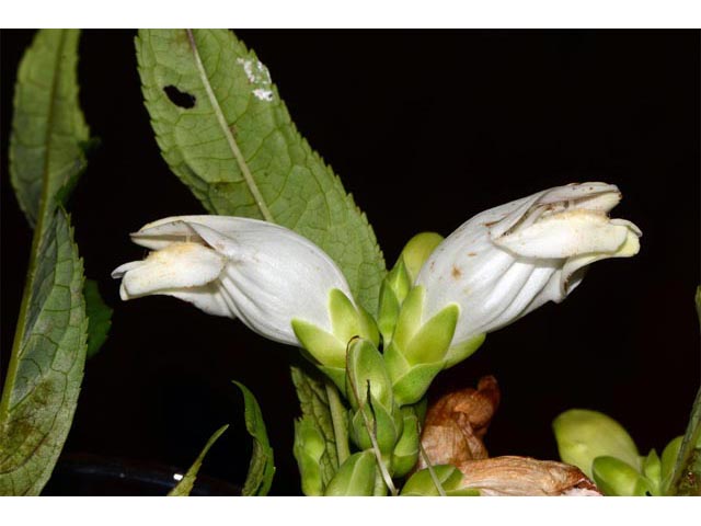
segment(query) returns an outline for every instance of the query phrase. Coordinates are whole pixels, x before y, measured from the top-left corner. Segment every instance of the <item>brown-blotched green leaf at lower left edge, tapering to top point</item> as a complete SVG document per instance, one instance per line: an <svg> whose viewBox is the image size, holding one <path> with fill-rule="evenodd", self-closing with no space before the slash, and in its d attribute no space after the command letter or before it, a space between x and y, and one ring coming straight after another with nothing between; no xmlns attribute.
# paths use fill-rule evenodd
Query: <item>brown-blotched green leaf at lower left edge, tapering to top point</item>
<svg viewBox="0 0 701 526"><path fill-rule="evenodd" d="M45 226L0 403L0 494L37 495L61 451L85 361L83 266L62 209Z"/></svg>

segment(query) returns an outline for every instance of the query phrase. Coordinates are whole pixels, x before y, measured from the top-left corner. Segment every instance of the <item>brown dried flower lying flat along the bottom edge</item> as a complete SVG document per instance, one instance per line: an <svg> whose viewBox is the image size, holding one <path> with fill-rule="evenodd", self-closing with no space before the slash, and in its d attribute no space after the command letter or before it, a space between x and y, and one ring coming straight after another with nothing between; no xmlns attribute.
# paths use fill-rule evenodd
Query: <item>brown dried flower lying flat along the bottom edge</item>
<svg viewBox="0 0 701 526"><path fill-rule="evenodd" d="M567 464L529 457L495 457L467 460L457 467L466 488L481 495L598 496L601 493L579 469Z"/></svg>

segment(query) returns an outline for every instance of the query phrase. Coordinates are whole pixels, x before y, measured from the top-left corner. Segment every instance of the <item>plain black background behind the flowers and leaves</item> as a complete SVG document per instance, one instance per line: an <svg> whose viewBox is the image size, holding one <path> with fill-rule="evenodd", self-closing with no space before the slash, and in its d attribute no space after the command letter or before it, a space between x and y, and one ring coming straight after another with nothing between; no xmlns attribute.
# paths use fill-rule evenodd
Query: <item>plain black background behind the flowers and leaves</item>
<svg viewBox="0 0 701 526"><path fill-rule="evenodd" d="M85 367L66 454L187 467L231 423L203 472L240 483L250 441L237 379L257 397L276 453L273 494L298 494L291 455L297 352L172 298L122 302L110 272L139 259L128 232L203 213L161 159L141 102L135 32L87 31L81 104L102 145L72 198L89 277L114 306ZM618 419L641 451L683 432L700 379L699 33L240 31L298 128L367 213L393 264L420 230L573 181L618 184L614 217L641 253L593 266L562 305L491 334L432 396L494 374L493 456L556 458L550 423L583 407ZM9 184L15 69L33 36L2 32L2 365L31 231Z"/></svg>

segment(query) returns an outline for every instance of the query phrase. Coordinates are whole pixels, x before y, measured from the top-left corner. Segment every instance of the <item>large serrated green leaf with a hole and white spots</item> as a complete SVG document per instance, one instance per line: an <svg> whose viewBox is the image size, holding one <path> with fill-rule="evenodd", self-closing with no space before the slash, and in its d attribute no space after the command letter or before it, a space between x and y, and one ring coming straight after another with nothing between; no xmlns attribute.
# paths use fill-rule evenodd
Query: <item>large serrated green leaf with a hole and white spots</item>
<svg viewBox="0 0 701 526"><path fill-rule="evenodd" d="M386 271L375 233L297 132L255 54L227 30L145 30L136 47L161 153L205 208L309 238L376 312Z"/></svg>

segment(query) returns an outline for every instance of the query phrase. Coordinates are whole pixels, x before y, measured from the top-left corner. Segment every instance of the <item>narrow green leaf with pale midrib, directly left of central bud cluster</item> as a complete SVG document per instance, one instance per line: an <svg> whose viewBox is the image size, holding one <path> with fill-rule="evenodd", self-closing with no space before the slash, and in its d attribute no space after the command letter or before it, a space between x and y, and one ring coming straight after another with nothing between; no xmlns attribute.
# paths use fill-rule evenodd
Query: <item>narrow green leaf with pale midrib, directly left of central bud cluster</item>
<svg viewBox="0 0 701 526"><path fill-rule="evenodd" d="M324 439L324 451L319 458L321 490L323 491L338 469L336 437L329 409L326 389L322 379L314 378L299 367L292 366L291 374L302 410L299 425L318 430ZM343 437L343 439L347 441L347 436ZM300 466L300 471L301 468Z"/></svg>

